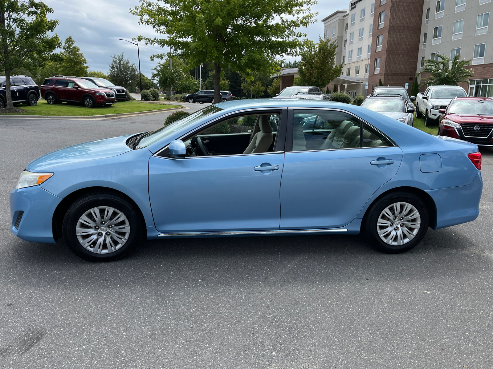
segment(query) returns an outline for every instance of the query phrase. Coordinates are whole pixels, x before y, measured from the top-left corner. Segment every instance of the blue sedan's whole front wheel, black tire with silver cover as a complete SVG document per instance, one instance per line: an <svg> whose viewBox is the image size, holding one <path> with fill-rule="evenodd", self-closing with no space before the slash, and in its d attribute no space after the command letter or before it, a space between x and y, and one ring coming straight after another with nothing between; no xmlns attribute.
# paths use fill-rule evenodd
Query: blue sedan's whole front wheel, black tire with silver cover
<svg viewBox="0 0 493 369"><path fill-rule="evenodd" d="M119 231L111 231L115 229L112 227L118 227ZM141 240L141 232L134 206L105 192L91 192L75 200L62 226L70 250L82 259L96 262L114 261L127 255Z"/></svg>

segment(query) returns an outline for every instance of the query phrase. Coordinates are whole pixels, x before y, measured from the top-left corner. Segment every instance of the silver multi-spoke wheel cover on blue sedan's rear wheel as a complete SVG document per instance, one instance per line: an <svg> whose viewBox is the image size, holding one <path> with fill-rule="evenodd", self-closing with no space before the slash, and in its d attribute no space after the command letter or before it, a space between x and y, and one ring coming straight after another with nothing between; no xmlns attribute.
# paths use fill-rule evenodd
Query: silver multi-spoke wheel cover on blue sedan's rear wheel
<svg viewBox="0 0 493 369"><path fill-rule="evenodd" d="M391 246L407 244L416 237L420 227L420 212L407 202L396 202L387 206L377 221L380 239Z"/></svg>

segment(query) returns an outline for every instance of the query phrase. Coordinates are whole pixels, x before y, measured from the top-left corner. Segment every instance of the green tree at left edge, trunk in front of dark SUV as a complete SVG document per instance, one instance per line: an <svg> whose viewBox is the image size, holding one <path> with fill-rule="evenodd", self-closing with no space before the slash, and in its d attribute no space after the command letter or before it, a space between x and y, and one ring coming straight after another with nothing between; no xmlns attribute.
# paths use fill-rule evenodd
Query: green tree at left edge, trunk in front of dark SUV
<svg viewBox="0 0 493 369"><path fill-rule="evenodd" d="M47 18L53 9L42 1L0 0L0 67L5 71L5 90L10 92L10 73L25 67L34 71L49 61L60 46L55 33L57 20ZM6 93L6 108L13 108L12 96Z"/></svg>

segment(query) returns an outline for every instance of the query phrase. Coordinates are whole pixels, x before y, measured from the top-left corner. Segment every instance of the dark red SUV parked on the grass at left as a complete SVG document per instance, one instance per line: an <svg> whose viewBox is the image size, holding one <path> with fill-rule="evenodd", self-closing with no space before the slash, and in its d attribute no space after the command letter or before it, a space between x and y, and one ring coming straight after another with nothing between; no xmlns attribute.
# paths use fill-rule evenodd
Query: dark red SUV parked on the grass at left
<svg viewBox="0 0 493 369"><path fill-rule="evenodd" d="M96 105L112 105L116 102L113 90L100 88L82 78L54 76L46 78L40 88L41 96L48 104L81 102L88 108L94 108Z"/></svg>

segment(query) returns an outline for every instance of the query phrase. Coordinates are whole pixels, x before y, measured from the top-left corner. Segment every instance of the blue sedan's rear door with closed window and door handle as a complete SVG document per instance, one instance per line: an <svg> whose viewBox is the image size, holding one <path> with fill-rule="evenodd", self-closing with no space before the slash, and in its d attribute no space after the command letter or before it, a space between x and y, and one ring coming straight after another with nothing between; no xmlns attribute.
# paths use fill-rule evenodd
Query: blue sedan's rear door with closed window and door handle
<svg viewBox="0 0 493 369"><path fill-rule="evenodd" d="M292 149L286 148L290 152L285 154L281 182L281 229L346 226L395 176L401 149L346 112L300 109L291 117ZM303 127L307 120L317 124Z"/></svg>

